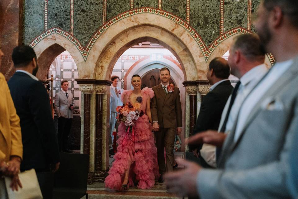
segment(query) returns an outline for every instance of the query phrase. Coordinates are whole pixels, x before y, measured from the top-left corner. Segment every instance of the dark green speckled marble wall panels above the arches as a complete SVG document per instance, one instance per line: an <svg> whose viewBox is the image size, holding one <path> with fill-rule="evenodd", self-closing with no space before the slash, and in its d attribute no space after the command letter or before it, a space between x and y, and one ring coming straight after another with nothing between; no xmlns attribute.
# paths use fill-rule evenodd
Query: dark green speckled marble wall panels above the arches
<svg viewBox="0 0 298 199"><path fill-rule="evenodd" d="M260 0L25 0L25 44L53 27L69 33L86 46L102 25L123 12L153 7L178 16L201 36L208 47L236 27L254 31L251 12Z"/></svg>

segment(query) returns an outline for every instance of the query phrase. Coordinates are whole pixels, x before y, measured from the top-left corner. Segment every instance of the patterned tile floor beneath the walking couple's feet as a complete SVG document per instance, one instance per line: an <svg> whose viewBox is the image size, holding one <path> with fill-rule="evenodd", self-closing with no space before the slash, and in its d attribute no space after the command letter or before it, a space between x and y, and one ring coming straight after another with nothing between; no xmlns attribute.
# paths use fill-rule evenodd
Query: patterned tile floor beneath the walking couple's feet
<svg viewBox="0 0 298 199"><path fill-rule="evenodd" d="M175 153L175 158L180 157L184 159L184 153ZM113 161L110 158L110 163ZM177 169L183 169L178 166ZM87 188L88 198L89 199L119 199L119 198L158 198L158 199L182 199L183 197L177 197L175 194L170 193L166 189L165 183L155 183L155 186L152 189L137 189L135 187L129 188L127 192L117 192L110 189L106 189L104 183L93 183L88 185ZM83 197L82 199L84 199ZM187 198L187 197L186 197Z"/></svg>

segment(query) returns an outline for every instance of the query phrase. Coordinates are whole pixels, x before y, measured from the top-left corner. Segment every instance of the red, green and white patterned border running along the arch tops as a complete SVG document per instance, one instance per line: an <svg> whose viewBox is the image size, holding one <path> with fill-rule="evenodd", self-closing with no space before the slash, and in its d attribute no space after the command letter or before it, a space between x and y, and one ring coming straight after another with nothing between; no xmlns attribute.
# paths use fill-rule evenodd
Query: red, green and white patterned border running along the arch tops
<svg viewBox="0 0 298 199"><path fill-rule="evenodd" d="M84 60L86 61L88 54L93 46L93 44L95 43L95 41L99 38L99 36L106 31L111 25L117 23L118 21L129 17L129 16L133 16L133 15L137 15L137 14L141 14L141 13L151 13L151 14L156 14L159 16L163 16L166 17L168 19L171 19L173 21L175 21L176 23L178 23L179 25L181 25L185 30L187 30L189 32L189 34L192 35L192 37L196 40L197 44L200 46L202 53L204 54L204 58L205 61L207 62L208 58L210 57L210 54L213 52L213 50L221 43L223 42L225 39L235 35L235 34L244 34L244 33L249 33L248 30L243 29L243 28L235 28L233 30L230 30L226 33L223 33L223 35L221 35L218 39L216 39L210 46L209 48L206 47L205 43L202 41L201 36L199 34L196 33L196 31L190 26L188 25L185 21L183 21L182 19L180 19L179 17L169 13L169 12L165 12L163 10L159 10L159 9L154 9L154 8L140 8L140 9L134 9L128 12L124 12L118 16L116 16L115 18L113 18L112 20L106 22L106 24L104 24L94 35L93 37L90 39L89 43L87 44L87 46L83 47L82 44L80 44L80 42L78 41L78 39L76 39L75 37L73 37L72 35L70 35L68 32L61 30L59 28L52 28L49 30L46 30L45 32L43 32L43 34L39 35L37 38L35 38L32 43L30 44L30 46L33 48L36 44L38 44L41 40L43 40L45 37L47 37L48 35L52 35L54 33L57 33L59 35L64 36L66 39L69 39L81 52Z"/></svg>

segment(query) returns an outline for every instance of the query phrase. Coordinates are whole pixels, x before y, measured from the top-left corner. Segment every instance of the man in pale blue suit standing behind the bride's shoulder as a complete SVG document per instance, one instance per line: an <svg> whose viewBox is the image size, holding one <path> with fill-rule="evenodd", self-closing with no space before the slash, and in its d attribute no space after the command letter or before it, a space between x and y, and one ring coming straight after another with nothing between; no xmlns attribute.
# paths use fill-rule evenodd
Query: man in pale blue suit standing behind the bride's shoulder
<svg viewBox="0 0 298 199"><path fill-rule="evenodd" d="M114 128L116 127L116 131L118 130L118 125L117 125L117 111L116 108L117 106L122 106L123 103L121 102L121 92L122 90L118 88L118 82L119 82L119 77L118 76L112 76L111 81L113 82L111 85L110 93L111 93L111 98L110 98L110 147L112 147L112 142L113 142L113 131ZM113 155L114 152L113 150L110 150L110 154Z"/></svg>

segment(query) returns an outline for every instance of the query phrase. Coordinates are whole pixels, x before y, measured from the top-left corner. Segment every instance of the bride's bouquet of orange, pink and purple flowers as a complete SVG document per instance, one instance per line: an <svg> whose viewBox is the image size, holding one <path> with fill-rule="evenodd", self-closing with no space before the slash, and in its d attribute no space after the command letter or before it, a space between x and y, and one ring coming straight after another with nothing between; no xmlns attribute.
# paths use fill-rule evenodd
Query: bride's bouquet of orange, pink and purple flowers
<svg viewBox="0 0 298 199"><path fill-rule="evenodd" d="M122 106L118 106L116 108L117 111L117 119L121 122L123 122L126 126L125 131L132 132L134 122L138 120L139 117L142 117L144 115L144 111L142 111L141 108L141 102L140 99L134 104L127 103L123 104Z"/></svg>

